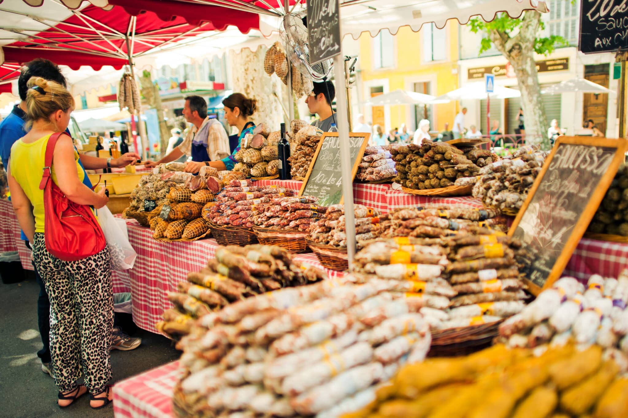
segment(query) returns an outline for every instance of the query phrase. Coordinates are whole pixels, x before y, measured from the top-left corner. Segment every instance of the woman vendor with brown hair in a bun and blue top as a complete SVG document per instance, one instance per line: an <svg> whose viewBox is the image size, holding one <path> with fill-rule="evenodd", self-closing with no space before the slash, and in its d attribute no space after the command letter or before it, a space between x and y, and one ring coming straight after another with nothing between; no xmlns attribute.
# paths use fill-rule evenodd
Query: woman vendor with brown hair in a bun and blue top
<svg viewBox="0 0 628 418"><path fill-rule="evenodd" d="M240 150L242 144L242 138L247 133L253 133L255 123L249 120L251 115L256 112L257 105L254 98L247 98L242 93L233 93L229 97L222 100L222 105L225 108L225 119L229 126L237 127L238 140L237 147L234 149L233 154L229 155L220 161L210 161L206 164L211 165L217 170L232 170L237 161L234 155Z"/></svg>

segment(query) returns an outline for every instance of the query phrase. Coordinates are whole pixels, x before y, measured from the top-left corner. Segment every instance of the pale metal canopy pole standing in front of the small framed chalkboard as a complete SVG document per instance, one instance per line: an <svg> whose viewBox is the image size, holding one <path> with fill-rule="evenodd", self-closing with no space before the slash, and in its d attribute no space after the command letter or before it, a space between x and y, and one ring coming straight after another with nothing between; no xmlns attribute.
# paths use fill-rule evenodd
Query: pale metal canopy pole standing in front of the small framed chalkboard
<svg viewBox="0 0 628 418"><path fill-rule="evenodd" d="M340 10L338 10L340 14ZM340 16L338 16L338 21ZM342 23L340 23L342 24ZM340 31L342 33L342 29ZM336 125L338 127L338 140L340 142L340 172L342 174L342 197L345 206L345 228L347 233L347 256L349 257L349 268L355 256L355 212L353 204L353 179L351 178L351 150L349 148L349 117L347 116L347 96L345 93L345 62L342 55L342 44L340 53L333 57L333 70L336 80Z"/></svg>

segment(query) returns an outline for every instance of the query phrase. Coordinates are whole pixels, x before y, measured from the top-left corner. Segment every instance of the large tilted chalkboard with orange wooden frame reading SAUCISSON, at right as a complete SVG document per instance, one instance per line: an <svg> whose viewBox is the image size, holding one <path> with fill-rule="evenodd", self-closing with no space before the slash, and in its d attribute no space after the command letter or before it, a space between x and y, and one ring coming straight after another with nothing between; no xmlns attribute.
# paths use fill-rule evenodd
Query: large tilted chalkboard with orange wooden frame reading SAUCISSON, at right
<svg viewBox="0 0 628 418"><path fill-rule="evenodd" d="M627 144L558 138L508 232L523 243L519 261L535 295L560 278L624 161Z"/></svg>

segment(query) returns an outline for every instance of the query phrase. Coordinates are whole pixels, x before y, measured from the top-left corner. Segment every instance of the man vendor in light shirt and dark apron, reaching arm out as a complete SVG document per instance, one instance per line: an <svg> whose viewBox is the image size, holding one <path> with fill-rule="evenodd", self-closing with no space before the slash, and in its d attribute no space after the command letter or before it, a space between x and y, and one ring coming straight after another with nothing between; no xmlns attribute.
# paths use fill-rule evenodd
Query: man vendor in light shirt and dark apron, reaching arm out
<svg viewBox="0 0 628 418"><path fill-rule="evenodd" d="M169 154L161 160L146 161L146 167L155 167L158 164L166 164L179 159L183 155L192 156L192 161L185 166L188 173L198 173L203 165L209 162L220 162L229 155L229 137L225 128L217 119L207 116L207 102L200 96L188 96L183 105L183 117L192 123L185 139Z"/></svg>

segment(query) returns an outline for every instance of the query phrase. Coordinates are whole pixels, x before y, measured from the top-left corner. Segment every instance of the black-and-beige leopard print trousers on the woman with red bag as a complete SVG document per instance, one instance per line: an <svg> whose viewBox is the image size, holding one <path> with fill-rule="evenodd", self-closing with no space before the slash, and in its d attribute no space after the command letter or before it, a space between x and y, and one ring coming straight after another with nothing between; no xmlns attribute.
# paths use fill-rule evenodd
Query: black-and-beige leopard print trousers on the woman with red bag
<svg viewBox="0 0 628 418"><path fill-rule="evenodd" d="M35 233L33 261L50 298L50 354L61 392L77 387L84 374L92 394L111 380L111 332L114 321L109 249L78 261L63 261Z"/></svg>

